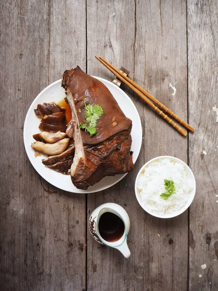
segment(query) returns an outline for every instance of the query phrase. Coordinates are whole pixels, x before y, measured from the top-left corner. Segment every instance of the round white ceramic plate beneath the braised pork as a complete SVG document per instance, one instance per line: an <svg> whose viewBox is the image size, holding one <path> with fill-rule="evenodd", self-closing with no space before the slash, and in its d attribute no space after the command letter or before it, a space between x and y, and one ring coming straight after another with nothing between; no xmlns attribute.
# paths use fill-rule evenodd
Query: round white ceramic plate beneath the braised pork
<svg viewBox="0 0 218 291"><path fill-rule="evenodd" d="M108 87L109 91L116 99L125 115L132 120L131 150L133 151L133 162L135 163L139 156L142 142L142 129L139 113L131 99L119 87L105 79L98 77L94 78L98 79L99 81L104 83L106 87ZM42 176L42 178L44 178L45 180L47 180L47 182L62 190L73 193L93 193L107 189L112 185L116 184L117 182L119 182L122 178L125 177L126 174L115 175L113 177L105 177L97 184L90 186L88 190L80 190L73 185L70 175L63 175L57 171L53 171L44 166L44 164L42 163L42 159L45 159L47 156L43 154L40 157L34 156L34 150L31 148L31 143L34 142L32 135L40 131L38 126L41 118L37 117L33 110L37 107L37 104L39 103L42 104L43 102L52 101L58 102L62 100L64 97L65 91L61 87L61 80L58 80L47 86L32 102L24 122L24 133L23 133L24 145L28 158L33 167L35 168L35 170L39 173L39 175Z"/></svg>

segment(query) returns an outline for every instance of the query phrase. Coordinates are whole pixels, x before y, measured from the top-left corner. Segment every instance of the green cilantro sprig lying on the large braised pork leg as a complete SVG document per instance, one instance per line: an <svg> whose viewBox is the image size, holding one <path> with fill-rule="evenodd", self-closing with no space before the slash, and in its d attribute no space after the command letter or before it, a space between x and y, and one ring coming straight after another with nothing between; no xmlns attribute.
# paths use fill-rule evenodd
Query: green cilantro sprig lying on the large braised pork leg
<svg viewBox="0 0 218 291"><path fill-rule="evenodd" d="M80 129L85 129L85 131L88 131L90 133L90 136L92 137L94 134L96 134L96 124L97 120L101 117L101 115L104 113L103 109L99 105L86 105L86 101L84 99L84 105L86 110L86 123L85 124L79 124ZM78 112L80 113L81 110L79 109ZM88 125L88 126L87 126Z"/></svg>

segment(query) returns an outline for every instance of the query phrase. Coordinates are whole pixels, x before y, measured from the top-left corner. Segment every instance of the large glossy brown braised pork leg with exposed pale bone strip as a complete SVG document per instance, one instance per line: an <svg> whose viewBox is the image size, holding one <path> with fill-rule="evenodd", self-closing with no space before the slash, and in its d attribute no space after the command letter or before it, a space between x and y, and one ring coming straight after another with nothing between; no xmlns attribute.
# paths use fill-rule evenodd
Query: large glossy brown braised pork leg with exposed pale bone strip
<svg viewBox="0 0 218 291"><path fill-rule="evenodd" d="M70 169L73 184L85 190L105 176L131 171L132 121L125 116L108 88L78 66L63 73L62 87L72 110L74 126L75 156ZM86 105L100 105L104 110L92 137L79 128L80 123L85 123L84 99Z"/></svg>

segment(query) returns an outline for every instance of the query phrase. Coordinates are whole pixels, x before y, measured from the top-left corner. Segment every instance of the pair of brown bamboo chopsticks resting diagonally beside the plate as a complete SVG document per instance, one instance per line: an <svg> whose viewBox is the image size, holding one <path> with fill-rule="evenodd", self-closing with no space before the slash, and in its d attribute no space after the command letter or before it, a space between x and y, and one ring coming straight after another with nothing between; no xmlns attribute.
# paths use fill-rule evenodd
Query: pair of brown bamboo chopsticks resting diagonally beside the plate
<svg viewBox="0 0 218 291"><path fill-rule="evenodd" d="M169 108L164 106L162 103L160 103L155 97L151 96L147 91L142 89L138 84L136 84L134 81L129 79L125 74L123 74L121 71L119 71L117 68L112 66L109 62L104 60L101 57L95 58L101 62L103 65L105 65L118 79L120 79L122 82L124 82L130 89L132 89L142 100L144 100L156 113L158 113L163 119L165 119L174 129L178 130L179 133L181 133L183 136L187 135L187 132L179 127L168 115L163 113L165 111L166 113L169 113L169 115L177 120L181 125L183 125L186 129L193 131L193 127L191 127L189 124L187 124L184 120L182 120L179 116L177 116L175 113L173 113ZM153 102L160 107L163 111L161 111Z"/></svg>

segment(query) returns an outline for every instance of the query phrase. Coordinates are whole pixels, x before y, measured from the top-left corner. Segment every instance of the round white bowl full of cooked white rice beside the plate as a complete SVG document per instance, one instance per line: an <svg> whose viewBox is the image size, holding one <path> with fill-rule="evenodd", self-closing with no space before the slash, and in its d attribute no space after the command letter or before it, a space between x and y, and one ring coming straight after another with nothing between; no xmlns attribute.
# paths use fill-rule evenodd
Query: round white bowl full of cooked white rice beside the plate
<svg viewBox="0 0 218 291"><path fill-rule="evenodd" d="M164 179L172 180L175 193L167 200L160 197L165 190ZM195 178L187 164L174 157L157 157L140 170L135 191L141 207L157 217L174 217L185 211L195 194Z"/></svg>

